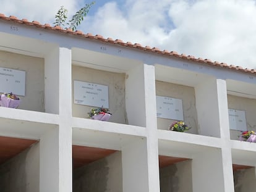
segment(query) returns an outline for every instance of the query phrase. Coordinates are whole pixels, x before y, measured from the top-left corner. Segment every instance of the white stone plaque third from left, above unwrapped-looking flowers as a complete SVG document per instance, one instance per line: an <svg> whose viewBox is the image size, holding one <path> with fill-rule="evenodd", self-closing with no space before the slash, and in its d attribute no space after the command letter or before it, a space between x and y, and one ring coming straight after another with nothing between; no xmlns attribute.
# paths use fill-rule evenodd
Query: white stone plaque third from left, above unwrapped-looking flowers
<svg viewBox="0 0 256 192"><path fill-rule="evenodd" d="M184 120L182 99L156 96L156 113L164 119Z"/></svg>

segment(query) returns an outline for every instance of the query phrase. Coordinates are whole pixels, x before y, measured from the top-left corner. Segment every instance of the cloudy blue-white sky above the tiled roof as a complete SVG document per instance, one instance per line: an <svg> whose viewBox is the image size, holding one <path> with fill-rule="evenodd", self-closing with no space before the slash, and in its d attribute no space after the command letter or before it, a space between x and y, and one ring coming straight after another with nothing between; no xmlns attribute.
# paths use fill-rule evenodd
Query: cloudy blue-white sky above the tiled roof
<svg viewBox="0 0 256 192"><path fill-rule="evenodd" d="M92 0L0 0L0 13L53 25ZM256 0L96 0L83 33L256 69Z"/></svg>

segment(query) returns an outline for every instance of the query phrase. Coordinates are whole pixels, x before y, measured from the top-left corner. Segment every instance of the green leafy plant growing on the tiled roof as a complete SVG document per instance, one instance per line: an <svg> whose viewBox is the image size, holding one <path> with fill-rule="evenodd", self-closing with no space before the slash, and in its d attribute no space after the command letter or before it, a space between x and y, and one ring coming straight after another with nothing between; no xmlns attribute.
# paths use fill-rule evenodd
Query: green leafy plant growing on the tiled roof
<svg viewBox="0 0 256 192"><path fill-rule="evenodd" d="M66 29L70 28L74 31L87 16L93 4L95 4L95 1L91 2L90 4L85 4L85 6L77 11L68 22L66 22L68 10L65 9L64 6L61 6L57 14L55 15L55 22L53 24L59 25L60 27L65 27Z"/></svg>

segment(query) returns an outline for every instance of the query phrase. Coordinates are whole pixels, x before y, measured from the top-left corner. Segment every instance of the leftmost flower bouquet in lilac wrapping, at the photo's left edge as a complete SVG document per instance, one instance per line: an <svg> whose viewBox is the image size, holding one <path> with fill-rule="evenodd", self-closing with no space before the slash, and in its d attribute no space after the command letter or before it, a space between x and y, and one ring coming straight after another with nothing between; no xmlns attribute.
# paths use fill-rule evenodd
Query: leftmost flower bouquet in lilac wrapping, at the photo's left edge
<svg viewBox="0 0 256 192"><path fill-rule="evenodd" d="M17 108L19 107L19 105L20 105L20 98L18 98L15 94L12 94L12 93L1 94L0 106Z"/></svg>

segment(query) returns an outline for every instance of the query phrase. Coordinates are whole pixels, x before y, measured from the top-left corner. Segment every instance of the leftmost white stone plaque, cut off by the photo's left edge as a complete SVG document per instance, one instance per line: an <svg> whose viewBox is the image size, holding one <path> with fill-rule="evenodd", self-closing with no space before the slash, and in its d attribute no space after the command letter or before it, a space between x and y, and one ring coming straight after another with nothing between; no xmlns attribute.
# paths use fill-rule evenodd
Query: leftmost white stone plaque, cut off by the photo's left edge
<svg viewBox="0 0 256 192"><path fill-rule="evenodd" d="M0 93L25 96L26 72L0 67Z"/></svg>

